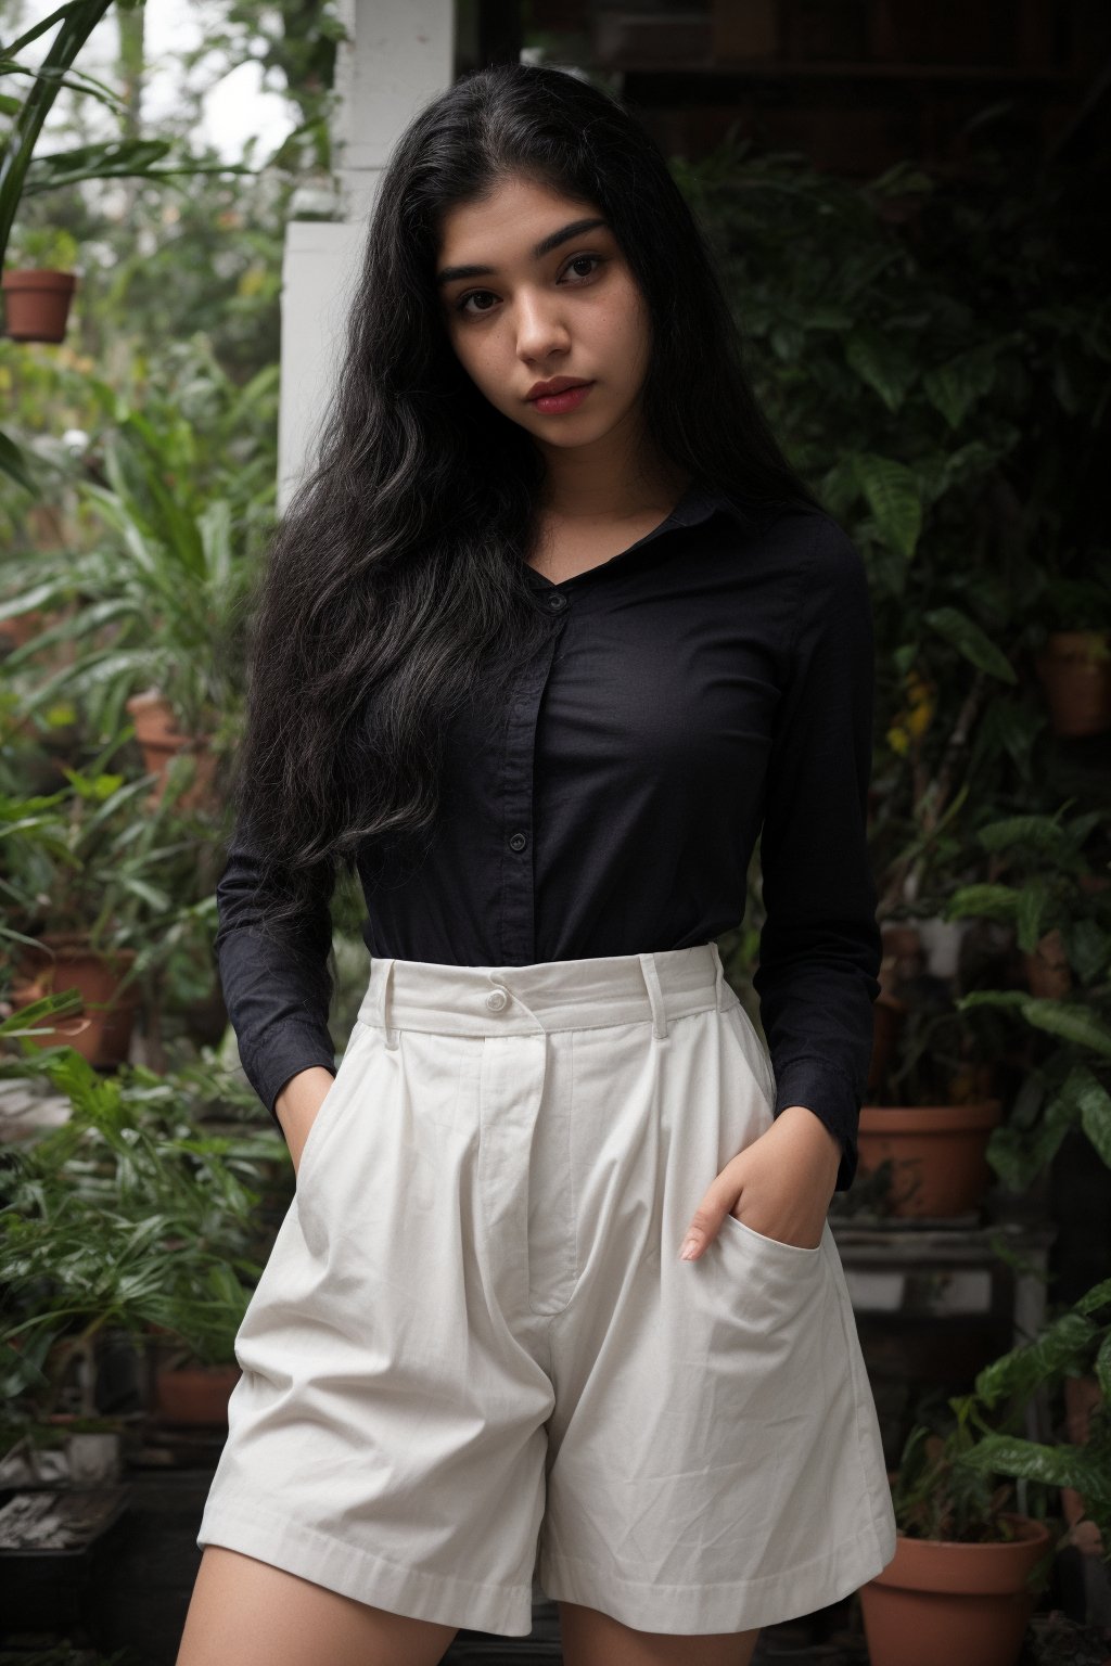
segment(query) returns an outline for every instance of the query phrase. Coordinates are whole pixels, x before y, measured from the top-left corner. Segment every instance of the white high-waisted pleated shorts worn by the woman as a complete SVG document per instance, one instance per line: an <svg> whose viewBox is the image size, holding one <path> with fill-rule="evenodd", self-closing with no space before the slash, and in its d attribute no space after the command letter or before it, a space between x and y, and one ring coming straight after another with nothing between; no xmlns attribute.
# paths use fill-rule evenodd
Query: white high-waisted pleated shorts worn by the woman
<svg viewBox="0 0 1111 1666"><path fill-rule="evenodd" d="M830 1223L708 1185L771 1126L715 943L376 958L237 1336L197 1543L363 1603L526 1636L533 1581L643 1631L745 1631L894 1556Z"/></svg>

